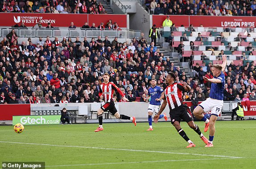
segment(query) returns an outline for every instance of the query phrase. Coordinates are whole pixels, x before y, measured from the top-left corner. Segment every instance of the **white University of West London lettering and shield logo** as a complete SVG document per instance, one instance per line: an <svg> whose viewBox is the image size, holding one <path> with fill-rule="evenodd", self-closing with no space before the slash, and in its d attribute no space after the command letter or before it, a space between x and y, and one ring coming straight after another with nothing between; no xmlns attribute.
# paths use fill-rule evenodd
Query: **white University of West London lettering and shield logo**
<svg viewBox="0 0 256 169"><path fill-rule="evenodd" d="M20 22L23 22L24 24L37 24L39 20L42 21L42 24L56 23L55 19L44 19L42 16L13 16L13 21L17 24Z"/></svg>

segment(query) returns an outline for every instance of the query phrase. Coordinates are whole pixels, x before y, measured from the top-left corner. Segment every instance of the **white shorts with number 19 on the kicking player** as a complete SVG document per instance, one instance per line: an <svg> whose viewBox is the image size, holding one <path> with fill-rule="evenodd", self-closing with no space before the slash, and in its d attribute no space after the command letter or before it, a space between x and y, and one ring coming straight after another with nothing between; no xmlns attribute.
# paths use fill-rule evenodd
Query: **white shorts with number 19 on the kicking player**
<svg viewBox="0 0 256 169"><path fill-rule="evenodd" d="M220 112L222 111L223 101L212 99L209 97L205 101L203 101L201 104L199 104L199 106L202 107L205 113L211 111L211 114L218 117Z"/></svg>

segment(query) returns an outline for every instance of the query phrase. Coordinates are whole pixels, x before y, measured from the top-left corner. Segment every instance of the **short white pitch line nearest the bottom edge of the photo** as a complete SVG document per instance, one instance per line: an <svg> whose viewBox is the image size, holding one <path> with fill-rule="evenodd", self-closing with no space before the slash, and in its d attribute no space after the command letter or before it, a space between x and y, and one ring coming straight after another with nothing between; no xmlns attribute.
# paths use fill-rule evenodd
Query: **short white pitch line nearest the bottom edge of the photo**
<svg viewBox="0 0 256 169"><path fill-rule="evenodd" d="M161 160L161 161L132 161L132 162L111 162L111 163L92 163L92 164L70 164L70 165L47 165L45 167L70 167L84 165L111 165L111 164L135 164L135 163L155 163L155 162L175 162L175 161L202 161L202 160L223 160L232 158L203 158L203 159L184 159L184 160Z"/></svg>

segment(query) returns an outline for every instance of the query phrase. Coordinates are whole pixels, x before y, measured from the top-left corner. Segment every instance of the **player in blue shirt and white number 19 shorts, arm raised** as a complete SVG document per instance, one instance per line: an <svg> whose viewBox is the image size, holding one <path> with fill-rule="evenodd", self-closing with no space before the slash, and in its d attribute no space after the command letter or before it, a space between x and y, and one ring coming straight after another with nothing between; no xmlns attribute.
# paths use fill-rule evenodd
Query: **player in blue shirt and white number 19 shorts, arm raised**
<svg viewBox="0 0 256 169"><path fill-rule="evenodd" d="M213 147L212 141L215 134L215 122L219 116L219 113L222 111L223 107L223 97L224 97L224 85L225 85L225 75L224 71L227 64L227 56L223 55L223 64L214 64L212 73L214 78L208 79L203 76L205 81L211 82L211 91L209 98L206 101L203 101L194 109L194 116L198 119L201 119L206 123L204 132L207 132L210 127L209 132L209 142L206 147ZM202 114L209 112L211 110L210 121Z"/></svg>

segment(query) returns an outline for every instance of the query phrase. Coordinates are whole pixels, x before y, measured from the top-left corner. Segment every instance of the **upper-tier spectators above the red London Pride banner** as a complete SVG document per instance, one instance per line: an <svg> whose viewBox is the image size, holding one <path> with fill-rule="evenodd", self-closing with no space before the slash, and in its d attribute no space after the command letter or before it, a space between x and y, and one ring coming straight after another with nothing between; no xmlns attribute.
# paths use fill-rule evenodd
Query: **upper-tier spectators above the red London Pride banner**
<svg viewBox="0 0 256 169"><path fill-rule="evenodd" d="M255 0L145 0L152 14L256 16Z"/></svg>

